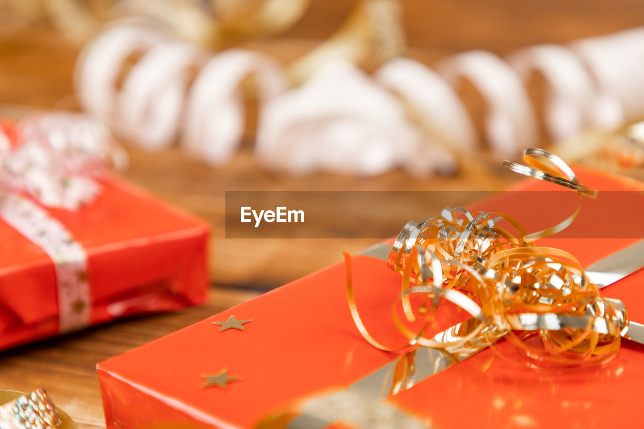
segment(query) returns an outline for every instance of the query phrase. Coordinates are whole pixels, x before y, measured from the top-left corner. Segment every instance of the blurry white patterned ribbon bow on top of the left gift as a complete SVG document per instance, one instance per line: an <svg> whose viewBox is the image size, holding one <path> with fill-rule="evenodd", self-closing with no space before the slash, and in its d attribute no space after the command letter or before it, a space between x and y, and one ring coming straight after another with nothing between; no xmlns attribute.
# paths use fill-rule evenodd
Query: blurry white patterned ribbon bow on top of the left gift
<svg viewBox="0 0 644 429"><path fill-rule="evenodd" d="M108 129L81 113L46 113L0 128L0 193L28 193L44 205L74 210L99 193L95 178L127 163ZM12 144L14 140L14 144Z"/></svg>

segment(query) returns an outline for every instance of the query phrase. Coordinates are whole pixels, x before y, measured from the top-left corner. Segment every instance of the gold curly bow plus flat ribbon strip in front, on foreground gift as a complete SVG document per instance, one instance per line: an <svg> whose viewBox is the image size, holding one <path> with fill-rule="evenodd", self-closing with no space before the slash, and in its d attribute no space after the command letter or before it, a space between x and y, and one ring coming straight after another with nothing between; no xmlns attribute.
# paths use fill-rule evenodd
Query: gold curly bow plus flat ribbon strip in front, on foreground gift
<svg viewBox="0 0 644 429"><path fill-rule="evenodd" d="M504 166L567 187L580 203L582 197L598 195L547 151L529 148L524 161L527 165L507 161ZM431 417L413 414L401 402L388 399L488 347L495 352L491 356L522 368L555 370L553 374L609 362L621 338L629 338L628 327L639 324L629 321L621 301L601 296L599 289L607 283L591 281L591 274L596 278L598 272L585 272L573 255L536 243L570 225L579 208L535 233L527 233L508 214L470 213L461 207L445 209L442 216L419 224L409 222L392 247L377 245L377 252L363 253L383 259L380 250L388 247L387 265L401 274L399 299L391 303L393 324L377 319L377 335L359 313L352 258L345 253L348 309L355 327L367 343L395 352L389 356L397 359L346 387L302 397L254 428L321 429L336 423L365 429L433 427ZM640 258L635 265L633 269L641 267ZM361 278L355 281L369 285ZM388 307L388 301L362 302L369 303L372 313L374 306ZM371 326L375 328L374 321ZM637 337L635 330L633 334ZM497 348L502 338L514 347ZM529 383L519 385L526 388ZM458 391L460 386L453 388Z"/></svg>

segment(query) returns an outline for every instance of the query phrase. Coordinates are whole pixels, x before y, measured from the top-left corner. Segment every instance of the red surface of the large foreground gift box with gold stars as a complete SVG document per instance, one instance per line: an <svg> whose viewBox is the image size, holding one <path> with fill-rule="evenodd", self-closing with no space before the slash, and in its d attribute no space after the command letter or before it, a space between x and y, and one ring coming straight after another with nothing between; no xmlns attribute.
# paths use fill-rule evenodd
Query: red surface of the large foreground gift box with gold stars
<svg viewBox="0 0 644 429"><path fill-rule="evenodd" d="M579 176L583 184L601 191L644 189L638 182L600 173L582 172ZM553 185L538 180L513 188L552 189ZM529 192L501 193L475 207L513 214L535 225L540 224L545 209L551 213L544 216L552 215L556 220L571 213L569 207L558 204L536 207L539 202L547 202L544 195L540 199ZM628 226L631 221L624 220L625 210L638 213L630 201L624 200L632 193L602 195L596 203L584 204L576 224L598 228L605 224L608 213L609 220L614 220L612 227ZM620 195L622 206L614 207ZM583 236L555 237L543 243L573 253L587 266L641 240L636 235L594 235L596 238L590 240ZM366 327L384 343L399 340L400 333L392 327L391 305L399 296L400 274L373 256L354 256L352 265L357 306ZM644 296L639 292L643 281L644 271L637 271L603 289L603 294L622 300L630 317L643 322ZM629 340L623 340L617 357L602 367L582 366L559 372L522 370L503 359L495 359L484 370L493 356L486 349L447 365L442 372L383 403L376 401L363 412L358 408L360 401L352 403L355 398L351 392L371 396L375 390L377 396L382 386L376 384L369 390L358 381L373 380L370 374L386 365L397 362L400 368L410 349L384 352L365 341L350 315L345 282L345 264L338 263L100 363L107 427L249 428L260 421L265 423L262 428L327 427L325 419L300 426L293 424L297 419L285 423L298 410L314 409L316 405L329 414L344 406L342 413L353 412L353 417L357 413L357 420L365 422L360 427L369 428L376 427L377 419L369 423L365 412L377 416L384 409L400 418L400 424L389 427L408 427L403 424L408 417L420 426L437 428L612 427L633 426L640 419L632 410L637 409L644 394L644 347ZM222 323L231 316L243 325L239 322L223 329L229 325ZM444 317L441 323L449 327L468 316L454 310ZM500 350L507 347L509 343L499 341ZM417 356L431 356L430 351L421 348ZM337 392L345 393L337 396L339 401L334 405L320 401ZM288 410L294 414L282 414ZM343 415L336 417L344 423L355 423L351 415ZM271 416L273 420L265 420Z"/></svg>

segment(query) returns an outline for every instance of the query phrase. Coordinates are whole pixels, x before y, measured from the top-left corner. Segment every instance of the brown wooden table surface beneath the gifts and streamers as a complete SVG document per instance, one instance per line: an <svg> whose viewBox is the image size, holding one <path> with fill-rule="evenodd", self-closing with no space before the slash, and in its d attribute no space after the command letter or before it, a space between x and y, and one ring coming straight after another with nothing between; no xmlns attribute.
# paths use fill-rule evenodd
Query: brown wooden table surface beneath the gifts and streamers
<svg viewBox="0 0 644 429"><path fill-rule="evenodd" d="M644 3L627 0L583 3L405 0L403 5L413 46L410 55L428 64L469 48L486 48L502 54L526 44L564 42L644 21ZM314 1L311 12L285 37L255 46L281 59L295 58L330 33L346 10L346 2L340 0ZM3 32L0 28L0 113L15 115L23 108L74 107L71 73L76 53L75 48L47 28L28 28L19 33ZM118 321L0 354L0 388L30 391L45 387L81 428L104 427L95 372L97 362L336 262L343 250L357 252L375 241L226 239L225 191L493 190L515 180L499 175L495 168L474 166L455 177L430 180L412 180L401 172L375 178L324 174L292 178L258 168L248 150L218 170L184 157L176 148L155 155L129 148L129 154L128 178L213 225L210 255L213 286L203 307ZM433 209L428 204L428 212ZM373 219L390 218L390 212L393 209L387 213L374 211ZM246 258L249 254L253 256L252 266Z"/></svg>

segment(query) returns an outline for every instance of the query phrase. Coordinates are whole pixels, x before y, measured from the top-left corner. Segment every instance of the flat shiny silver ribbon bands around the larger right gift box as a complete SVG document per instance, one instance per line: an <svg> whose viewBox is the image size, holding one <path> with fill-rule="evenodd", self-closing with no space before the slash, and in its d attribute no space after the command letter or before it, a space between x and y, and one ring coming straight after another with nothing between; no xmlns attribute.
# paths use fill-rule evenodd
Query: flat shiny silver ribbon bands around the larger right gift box
<svg viewBox="0 0 644 429"><path fill-rule="evenodd" d="M391 249L391 245L377 244L361 254L387 261ZM641 256L643 250L644 241L630 245L607 256L600 262L594 263L586 274L600 287L610 285L644 267L644 258ZM517 316L516 320L509 320L509 322L515 329L561 329L563 325L585 328L588 325L587 318L575 316L549 318L548 316L549 314L521 314ZM448 342L451 337L457 337L455 334L460 332L462 325L466 323L477 323L477 320L469 319L454 325L437 334L434 339ZM628 327L628 338L644 344L644 325L630 321ZM593 330L600 333L607 332L605 319L594 319ZM502 338L506 333L507 330L495 330L488 332L488 338L493 342ZM355 382L345 390L310 399L301 409L301 415L293 419L287 427L289 429L322 429L338 421L365 429L431 427L429 421L421 421L405 414L394 405L383 402L384 399L439 374L439 372L473 356L488 346L489 342L481 341L468 344L468 347L460 346L445 350L421 347L411 354L399 358L409 357L412 361L411 365L413 365L413 371L404 380L404 383L393 385L393 370L399 362L397 359Z"/></svg>

